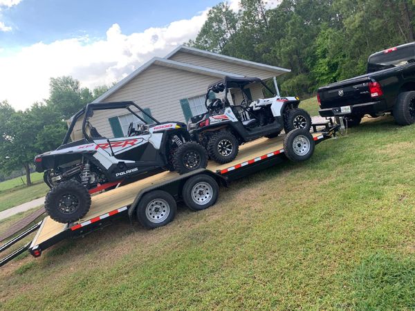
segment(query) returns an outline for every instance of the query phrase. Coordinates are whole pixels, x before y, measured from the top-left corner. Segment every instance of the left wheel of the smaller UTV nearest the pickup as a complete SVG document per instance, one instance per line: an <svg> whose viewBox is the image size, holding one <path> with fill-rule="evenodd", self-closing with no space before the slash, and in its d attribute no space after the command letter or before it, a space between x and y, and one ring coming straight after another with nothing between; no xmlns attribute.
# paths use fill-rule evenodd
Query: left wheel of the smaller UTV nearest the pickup
<svg viewBox="0 0 415 311"><path fill-rule="evenodd" d="M208 142L209 156L219 164L232 162L237 157L238 151L238 139L230 131L216 132Z"/></svg>

